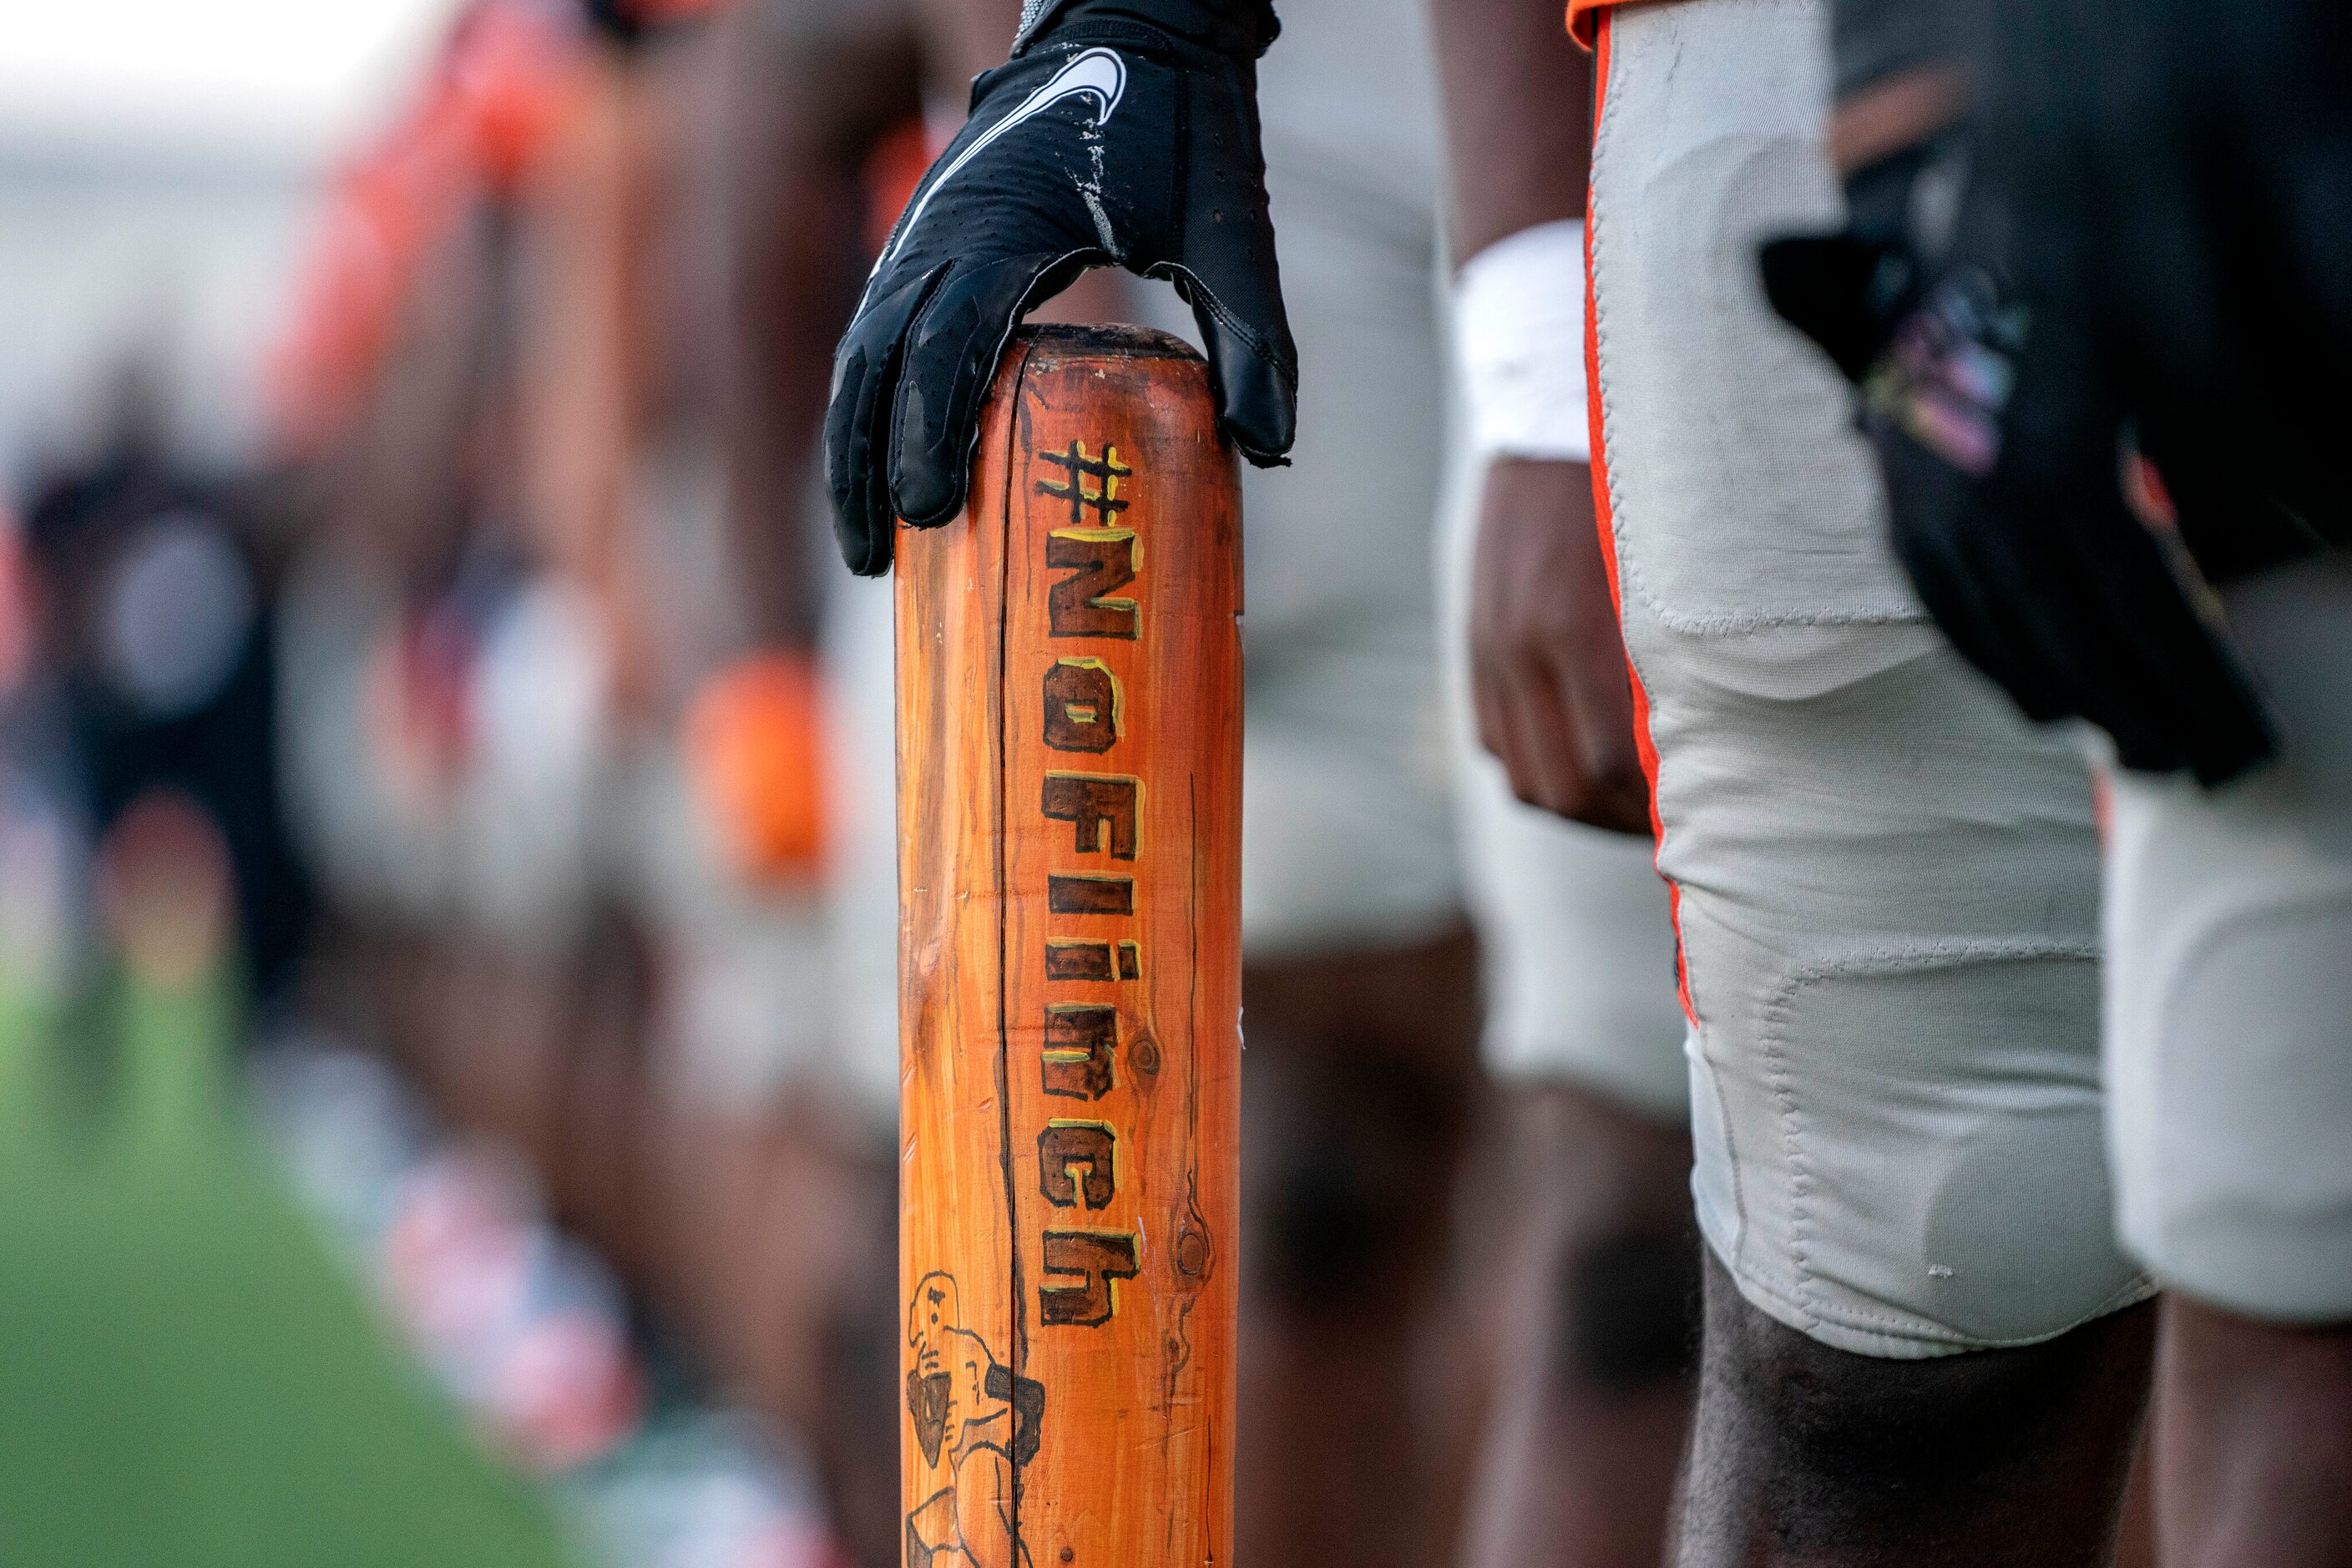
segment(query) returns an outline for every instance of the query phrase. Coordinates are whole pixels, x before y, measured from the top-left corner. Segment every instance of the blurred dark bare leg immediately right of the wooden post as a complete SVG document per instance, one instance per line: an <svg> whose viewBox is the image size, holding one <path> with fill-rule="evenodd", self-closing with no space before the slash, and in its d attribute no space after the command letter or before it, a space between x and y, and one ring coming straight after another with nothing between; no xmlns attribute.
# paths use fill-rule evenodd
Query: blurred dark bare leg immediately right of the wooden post
<svg viewBox="0 0 2352 1568"><path fill-rule="evenodd" d="M1242 976L1235 1556L1437 1561L1444 1410L1416 1408L1477 1079L1468 931Z"/></svg>

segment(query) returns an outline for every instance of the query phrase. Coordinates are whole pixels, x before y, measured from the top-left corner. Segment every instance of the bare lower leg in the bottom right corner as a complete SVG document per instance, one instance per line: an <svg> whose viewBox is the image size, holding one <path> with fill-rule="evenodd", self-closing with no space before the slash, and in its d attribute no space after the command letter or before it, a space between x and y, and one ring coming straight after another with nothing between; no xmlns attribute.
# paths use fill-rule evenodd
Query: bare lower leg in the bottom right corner
<svg viewBox="0 0 2352 1568"><path fill-rule="evenodd" d="M2352 1326L2284 1328L2169 1295L2154 1450L2166 1568L2345 1568Z"/></svg>

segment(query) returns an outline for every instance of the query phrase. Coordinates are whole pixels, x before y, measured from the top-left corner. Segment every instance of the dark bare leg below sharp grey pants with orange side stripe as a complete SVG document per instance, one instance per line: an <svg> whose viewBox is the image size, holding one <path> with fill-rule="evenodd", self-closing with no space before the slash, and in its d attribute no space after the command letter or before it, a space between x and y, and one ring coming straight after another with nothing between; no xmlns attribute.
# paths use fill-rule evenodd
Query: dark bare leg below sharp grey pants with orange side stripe
<svg viewBox="0 0 2352 1568"><path fill-rule="evenodd" d="M1879 1361L1750 1307L1708 1255L1684 1568L2114 1559L2154 1307L2046 1345Z"/></svg>

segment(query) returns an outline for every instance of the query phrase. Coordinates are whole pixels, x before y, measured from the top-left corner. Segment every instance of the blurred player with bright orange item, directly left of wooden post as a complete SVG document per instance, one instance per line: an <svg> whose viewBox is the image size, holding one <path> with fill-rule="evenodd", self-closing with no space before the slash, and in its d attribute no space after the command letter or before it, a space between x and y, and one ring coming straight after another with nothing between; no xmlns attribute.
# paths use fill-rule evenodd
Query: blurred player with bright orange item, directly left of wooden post
<svg viewBox="0 0 2352 1568"><path fill-rule="evenodd" d="M635 1175L659 1194L666 1300L809 1446L856 1535L894 1507L894 1321L868 1305L894 1293L896 1053L842 1048L828 898L856 872L837 825L873 802L837 804L842 705L814 623L776 611L804 574L731 552L731 35L701 9L590 7L593 101L529 207L527 473L553 559L612 628L604 853L654 994L649 1072L607 1079L607 1105L652 1161ZM762 616L783 632L753 637Z"/></svg>

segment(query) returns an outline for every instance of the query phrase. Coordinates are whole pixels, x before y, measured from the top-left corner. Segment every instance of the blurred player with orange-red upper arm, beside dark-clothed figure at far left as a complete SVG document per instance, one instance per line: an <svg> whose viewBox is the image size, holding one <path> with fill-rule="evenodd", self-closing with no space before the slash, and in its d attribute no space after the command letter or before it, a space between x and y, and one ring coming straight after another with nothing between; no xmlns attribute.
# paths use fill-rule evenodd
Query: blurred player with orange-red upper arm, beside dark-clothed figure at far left
<svg viewBox="0 0 2352 1568"><path fill-rule="evenodd" d="M341 999L437 1091L508 1032L503 1009L463 994L466 943L437 933L463 912L466 785L506 743L475 677L520 576L513 205L569 92L548 63L557 24L496 2L461 14L339 176L275 378L280 444L322 505L282 625L287 776L355 924L365 994Z"/></svg>

